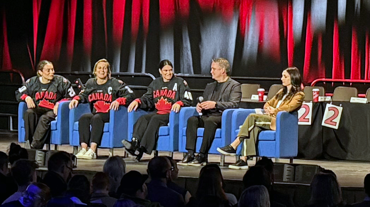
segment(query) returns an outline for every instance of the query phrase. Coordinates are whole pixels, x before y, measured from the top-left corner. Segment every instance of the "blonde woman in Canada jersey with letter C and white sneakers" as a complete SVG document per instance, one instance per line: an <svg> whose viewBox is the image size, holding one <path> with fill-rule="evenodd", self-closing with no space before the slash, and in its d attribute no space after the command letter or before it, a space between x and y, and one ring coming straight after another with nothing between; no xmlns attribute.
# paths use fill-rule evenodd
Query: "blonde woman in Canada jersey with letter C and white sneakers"
<svg viewBox="0 0 370 207"><path fill-rule="evenodd" d="M95 63L92 74L95 78L87 80L85 89L69 105L73 109L78 103L90 103L91 113L85 113L78 120L81 150L76 157L81 159L96 159L95 152L101 142L104 123L109 122L109 110L118 110L120 105L134 99L134 93L125 83L111 77L110 64L106 59ZM90 149L87 149L89 144Z"/></svg>

